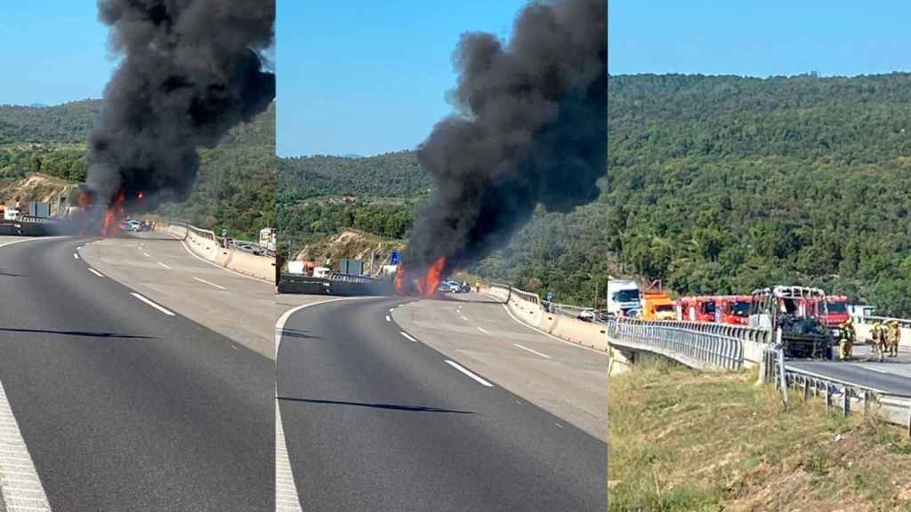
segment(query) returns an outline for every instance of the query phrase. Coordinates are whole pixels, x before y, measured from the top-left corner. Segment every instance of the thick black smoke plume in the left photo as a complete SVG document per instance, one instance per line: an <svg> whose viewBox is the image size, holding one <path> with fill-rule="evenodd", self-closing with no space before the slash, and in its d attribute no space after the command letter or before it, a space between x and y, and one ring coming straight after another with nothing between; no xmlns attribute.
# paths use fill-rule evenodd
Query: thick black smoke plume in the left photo
<svg viewBox="0 0 911 512"><path fill-rule="evenodd" d="M273 44L275 1L98 0L98 17L123 58L89 138L95 203L119 192L131 210L186 200L197 148L216 146L275 97L261 57Z"/></svg>

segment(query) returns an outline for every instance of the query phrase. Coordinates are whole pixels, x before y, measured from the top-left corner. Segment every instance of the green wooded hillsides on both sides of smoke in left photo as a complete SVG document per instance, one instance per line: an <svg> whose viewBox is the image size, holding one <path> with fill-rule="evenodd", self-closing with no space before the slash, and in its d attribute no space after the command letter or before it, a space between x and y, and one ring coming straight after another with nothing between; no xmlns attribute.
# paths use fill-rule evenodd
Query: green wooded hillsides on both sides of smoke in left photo
<svg viewBox="0 0 911 512"><path fill-rule="evenodd" d="M70 181L86 178L86 141L100 100L57 107L0 106L0 180L42 172ZM275 108L233 129L218 148L200 150L201 168L190 199L158 213L205 228L227 228L252 239L275 225Z"/></svg>

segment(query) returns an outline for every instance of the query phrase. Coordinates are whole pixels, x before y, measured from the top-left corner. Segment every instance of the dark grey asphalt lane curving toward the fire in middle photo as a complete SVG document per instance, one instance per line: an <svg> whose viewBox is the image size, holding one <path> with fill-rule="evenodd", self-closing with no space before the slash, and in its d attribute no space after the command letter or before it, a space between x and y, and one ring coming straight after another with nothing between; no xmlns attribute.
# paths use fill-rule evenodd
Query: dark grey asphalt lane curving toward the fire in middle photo
<svg viewBox="0 0 911 512"><path fill-rule="evenodd" d="M276 391L303 509L606 510L607 445L407 333L390 312L405 302L317 303L284 324Z"/></svg>

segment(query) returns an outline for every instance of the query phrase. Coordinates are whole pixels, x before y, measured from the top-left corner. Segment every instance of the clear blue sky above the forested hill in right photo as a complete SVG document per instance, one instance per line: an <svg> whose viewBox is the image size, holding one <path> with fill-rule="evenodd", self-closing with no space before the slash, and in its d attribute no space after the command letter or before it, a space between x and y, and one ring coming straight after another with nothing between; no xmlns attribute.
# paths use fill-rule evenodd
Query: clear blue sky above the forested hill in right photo
<svg viewBox="0 0 911 512"><path fill-rule="evenodd" d="M609 72L823 76L911 69L911 3L614 0Z"/></svg>

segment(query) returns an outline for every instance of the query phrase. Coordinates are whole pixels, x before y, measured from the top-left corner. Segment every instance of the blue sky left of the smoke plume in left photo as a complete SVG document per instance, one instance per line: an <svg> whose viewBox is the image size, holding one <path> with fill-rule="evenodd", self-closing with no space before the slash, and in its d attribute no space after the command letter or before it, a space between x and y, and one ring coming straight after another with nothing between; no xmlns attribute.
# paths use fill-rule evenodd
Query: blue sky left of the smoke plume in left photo
<svg viewBox="0 0 911 512"><path fill-rule="evenodd" d="M92 0L0 2L0 103L56 105L101 97L115 61Z"/></svg>

